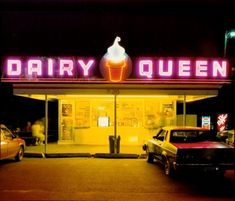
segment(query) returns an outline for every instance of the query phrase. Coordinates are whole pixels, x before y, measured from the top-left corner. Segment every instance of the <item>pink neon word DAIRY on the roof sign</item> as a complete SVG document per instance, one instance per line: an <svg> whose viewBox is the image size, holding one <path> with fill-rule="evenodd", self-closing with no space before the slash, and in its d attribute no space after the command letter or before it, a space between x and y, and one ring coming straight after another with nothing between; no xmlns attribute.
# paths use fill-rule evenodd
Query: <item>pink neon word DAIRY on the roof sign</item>
<svg viewBox="0 0 235 201"><path fill-rule="evenodd" d="M82 77L89 76L89 72L95 64L94 59L78 58L37 58L24 61L22 59L7 59L6 74L9 77L74 77L80 74Z"/></svg>

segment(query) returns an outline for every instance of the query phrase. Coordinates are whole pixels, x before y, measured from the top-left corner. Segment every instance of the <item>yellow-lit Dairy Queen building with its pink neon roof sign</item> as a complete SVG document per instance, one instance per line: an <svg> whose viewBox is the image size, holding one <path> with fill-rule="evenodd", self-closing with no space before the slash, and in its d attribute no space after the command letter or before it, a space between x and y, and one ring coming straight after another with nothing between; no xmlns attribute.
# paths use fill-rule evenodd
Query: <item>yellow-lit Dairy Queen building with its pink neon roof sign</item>
<svg viewBox="0 0 235 201"><path fill-rule="evenodd" d="M186 103L217 96L229 83L224 59L130 58L119 41L102 58L7 57L2 81L16 95L45 100L45 108L58 100L58 144L79 145L107 145L110 135L143 145L160 126L196 126Z"/></svg>

